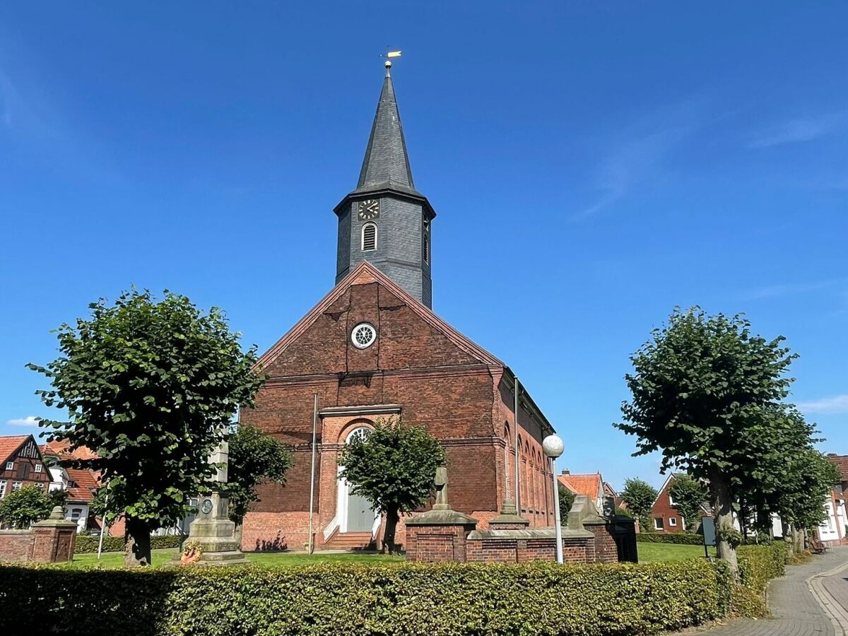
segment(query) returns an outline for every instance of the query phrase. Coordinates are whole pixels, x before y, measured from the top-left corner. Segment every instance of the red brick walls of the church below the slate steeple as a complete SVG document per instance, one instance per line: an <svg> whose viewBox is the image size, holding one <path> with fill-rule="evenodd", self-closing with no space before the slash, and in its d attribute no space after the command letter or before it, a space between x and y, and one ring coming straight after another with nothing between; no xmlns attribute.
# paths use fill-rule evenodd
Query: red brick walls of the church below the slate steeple
<svg viewBox="0 0 848 636"><path fill-rule="evenodd" d="M362 322L377 327L377 341L368 349L350 343L350 331ZM442 440L448 458L449 503L455 510L477 515L480 527L496 516L511 483L505 462L504 423L512 430L512 397L501 382L503 367L483 364L421 319L410 307L377 282L349 287L311 326L296 326L296 337L276 360L254 409L241 412L243 424L292 444L293 466L284 486L259 488L243 528L243 549L284 537L290 548L307 540L310 498L310 443L313 395L318 409L333 406L400 404L405 421L421 424ZM508 401L504 401L504 396ZM377 416L360 421L366 426ZM319 421L315 466L315 543L337 508L339 445L355 418L326 417ZM550 525L550 468L541 458L541 429L527 413L519 414L522 488L527 488L526 515L532 525ZM511 455L510 443L510 455ZM546 479L547 477L547 479ZM532 496L531 496L532 493ZM399 527L398 541L404 540Z"/></svg>

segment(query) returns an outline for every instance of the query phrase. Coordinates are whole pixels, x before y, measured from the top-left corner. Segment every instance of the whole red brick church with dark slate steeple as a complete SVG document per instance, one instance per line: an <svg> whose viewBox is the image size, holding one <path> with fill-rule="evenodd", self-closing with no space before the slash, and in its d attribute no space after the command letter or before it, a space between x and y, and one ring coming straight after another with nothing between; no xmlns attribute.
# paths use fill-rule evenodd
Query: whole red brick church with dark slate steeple
<svg viewBox="0 0 848 636"><path fill-rule="evenodd" d="M304 548L313 476L316 549L377 542L383 520L338 478L337 458L352 436L397 416L444 444L450 505L478 528L516 501L531 527L554 523L541 447L550 422L510 367L432 312L436 212L412 181L390 66L359 181L333 210L336 286L262 355L270 379L240 415L294 451L285 486L260 489L244 550Z"/></svg>

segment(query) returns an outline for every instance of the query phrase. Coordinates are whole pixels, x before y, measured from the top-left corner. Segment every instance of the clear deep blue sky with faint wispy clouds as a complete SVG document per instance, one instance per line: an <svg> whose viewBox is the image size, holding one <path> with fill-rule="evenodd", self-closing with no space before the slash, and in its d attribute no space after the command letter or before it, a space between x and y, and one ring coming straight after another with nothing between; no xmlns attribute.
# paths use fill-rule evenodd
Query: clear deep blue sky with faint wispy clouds
<svg viewBox="0 0 848 636"><path fill-rule="evenodd" d="M391 45L433 309L518 373L562 465L661 483L611 422L692 304L784 334L848 453L845 3L124 4L0 5L0 432L48 415L49 330L131 284L259 349L304 315Z"/></svg>

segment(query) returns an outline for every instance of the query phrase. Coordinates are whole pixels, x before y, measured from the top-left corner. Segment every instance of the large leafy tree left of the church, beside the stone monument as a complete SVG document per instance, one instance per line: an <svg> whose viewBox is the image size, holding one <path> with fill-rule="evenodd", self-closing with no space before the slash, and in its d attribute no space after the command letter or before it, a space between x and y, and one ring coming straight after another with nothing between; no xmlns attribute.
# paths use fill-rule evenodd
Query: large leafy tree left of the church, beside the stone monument
<svg viewBox="0 0 848 636"><path fill-rule="evenodd" d="M208 488L210 452L264 378L253 371L255 347L242 351L217 308L204 314L185 296L131 290L89 309L59 327L57 360L28 365L52 384L37 392L43 402L70 413L40 424L53 429L48 439L97 453L66 463L101 472L105 521L126 520L125 564L149 565L150 532L183 518L187 495Z"/></svg>

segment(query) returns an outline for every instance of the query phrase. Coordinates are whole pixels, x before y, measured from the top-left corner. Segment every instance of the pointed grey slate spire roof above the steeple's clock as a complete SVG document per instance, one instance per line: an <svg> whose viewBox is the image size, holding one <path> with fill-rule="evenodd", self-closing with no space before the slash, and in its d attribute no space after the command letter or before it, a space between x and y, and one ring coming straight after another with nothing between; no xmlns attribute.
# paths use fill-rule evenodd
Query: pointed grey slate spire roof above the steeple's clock
<svg viewBox="0 0 848 636"><path fill-rule="evenodd" d="M385 188L417 194L412 181L410 158L406 153L404 129L400 125L398 101L394 97L392 75L388 68L382 81L382 92L380 102L377 103L374 124L371 126L371 136L368 137L368 146L365 148L360 180L354 192Z"/></svg>

